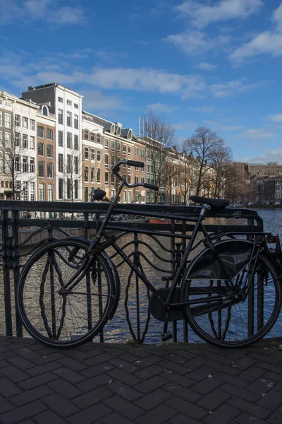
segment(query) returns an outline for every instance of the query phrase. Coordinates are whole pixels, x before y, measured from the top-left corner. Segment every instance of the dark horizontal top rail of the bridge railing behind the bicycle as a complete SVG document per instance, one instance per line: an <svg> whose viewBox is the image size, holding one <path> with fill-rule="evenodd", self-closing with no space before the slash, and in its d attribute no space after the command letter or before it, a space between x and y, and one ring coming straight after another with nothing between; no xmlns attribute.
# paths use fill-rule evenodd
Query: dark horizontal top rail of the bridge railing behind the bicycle
<svg viewBox="0 0 282 424"><path fill-rule="evenodd" d="M68 213L106 213L109 204L106 202L62 202L62 201L20 201L4 200L0 201L0 210L2 211L37 211L50 212L60 211ZM130 215L157 216L163 218L183 219L188 217L197 218L201 208L198 206L181 205L155 205L155 204L119 204L114 213L128 213ZM247 218L262 222L262 218L257 211L245 208L225 208L221 211L209 210L207 217L218 218Z"/></svg>

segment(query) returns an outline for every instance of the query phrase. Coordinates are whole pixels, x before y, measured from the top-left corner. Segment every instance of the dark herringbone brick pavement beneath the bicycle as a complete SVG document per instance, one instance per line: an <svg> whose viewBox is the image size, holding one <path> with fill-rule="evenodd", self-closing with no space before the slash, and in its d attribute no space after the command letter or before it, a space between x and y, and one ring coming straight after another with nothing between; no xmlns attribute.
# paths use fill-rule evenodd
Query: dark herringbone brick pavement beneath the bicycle
<svg viewBox="0 0 282 424"><path fill-rule="evenodd" d="M281 424L280 343L59 351L0 337L0 423Z"/></svg>

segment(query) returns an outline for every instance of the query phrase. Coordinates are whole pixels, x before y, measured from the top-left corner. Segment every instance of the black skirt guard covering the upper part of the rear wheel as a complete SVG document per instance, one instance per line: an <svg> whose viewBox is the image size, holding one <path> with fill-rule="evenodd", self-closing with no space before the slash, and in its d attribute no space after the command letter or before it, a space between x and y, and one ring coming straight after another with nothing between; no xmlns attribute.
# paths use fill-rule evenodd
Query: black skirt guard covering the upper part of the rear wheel
<svg viewBox="0 0 282 424"><path fill-rule="evenodd" d="M214 243L214 249L223 262L228 275L223 270L215 252L207 247L195 257L188 267L185 280L203 278L227 280L234 278L250 261L254 244L248 240L223 240Z"/></svg>

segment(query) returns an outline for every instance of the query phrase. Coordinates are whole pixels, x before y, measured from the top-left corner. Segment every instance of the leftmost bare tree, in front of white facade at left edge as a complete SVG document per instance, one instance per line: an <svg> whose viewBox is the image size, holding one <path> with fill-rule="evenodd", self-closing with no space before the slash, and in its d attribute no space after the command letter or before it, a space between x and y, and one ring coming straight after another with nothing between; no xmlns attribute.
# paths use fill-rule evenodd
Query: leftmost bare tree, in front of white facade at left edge
<svg viewBox="0 0 282 424"><path fill-rule="evenodd" d="M11 134L5 140L5 150L1 152L0 173L5 175L13 200L16 193L22 192L25 184L35 181L35 158L30 155L27 137Z"/></svg>

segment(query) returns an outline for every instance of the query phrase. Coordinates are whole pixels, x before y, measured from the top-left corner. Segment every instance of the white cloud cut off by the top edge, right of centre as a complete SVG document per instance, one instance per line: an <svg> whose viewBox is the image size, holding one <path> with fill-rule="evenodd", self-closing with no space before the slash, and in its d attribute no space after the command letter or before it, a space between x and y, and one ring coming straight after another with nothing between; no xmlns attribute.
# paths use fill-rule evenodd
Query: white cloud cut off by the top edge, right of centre
<svg viewBox="0 0 282 424"><path fill-rule="evenodd" d="M192 20L198 28L204 28L210 23L247 18L257 12L262 4L262 0L221 0L212 5L185 0L183 4L176 6L176 11L183 18Z"/></svg>

